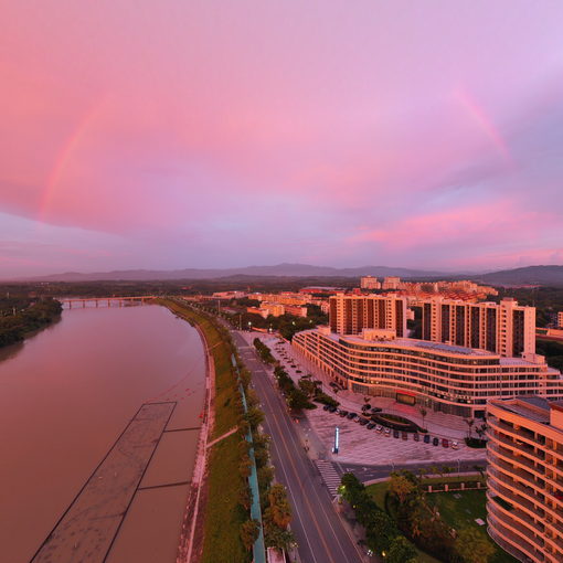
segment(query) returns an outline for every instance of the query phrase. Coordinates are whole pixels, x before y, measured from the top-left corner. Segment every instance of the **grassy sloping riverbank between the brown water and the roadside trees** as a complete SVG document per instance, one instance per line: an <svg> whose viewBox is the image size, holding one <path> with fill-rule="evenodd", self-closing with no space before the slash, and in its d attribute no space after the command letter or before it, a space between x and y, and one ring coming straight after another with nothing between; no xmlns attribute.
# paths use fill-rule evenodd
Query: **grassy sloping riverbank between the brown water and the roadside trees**
<svg viewBox="0 0 563 563"><path fill-rule="evenodd" d="M240 433L229 435L212 448L206 447L208 437L214 440L227 434L240 422L240 397L231 363L234 350L223 329L209 317L178 300L162 299L157 302L198 328L205 342L209 365L210 394L203 418L205 431L202 429L200 436L195 461L196 468L201 470L201 481L196 488L192 488L188 500L185 530L178 561L188 561L189 553L190 563L248 561L249 554L240 533L242 524L247 520L246 511L241 506Z"/></svg>

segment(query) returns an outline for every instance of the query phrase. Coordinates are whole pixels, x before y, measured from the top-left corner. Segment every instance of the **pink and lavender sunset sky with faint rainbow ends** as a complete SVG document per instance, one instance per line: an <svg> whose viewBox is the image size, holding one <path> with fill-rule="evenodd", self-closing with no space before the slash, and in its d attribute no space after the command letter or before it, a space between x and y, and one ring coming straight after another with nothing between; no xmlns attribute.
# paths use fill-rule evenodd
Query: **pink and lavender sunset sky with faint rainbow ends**
<svg viewBox="0 0 563 563"><path fill-rule="evenodd" d="M563 264L559 0L0 0L0 278Z"/></svg>

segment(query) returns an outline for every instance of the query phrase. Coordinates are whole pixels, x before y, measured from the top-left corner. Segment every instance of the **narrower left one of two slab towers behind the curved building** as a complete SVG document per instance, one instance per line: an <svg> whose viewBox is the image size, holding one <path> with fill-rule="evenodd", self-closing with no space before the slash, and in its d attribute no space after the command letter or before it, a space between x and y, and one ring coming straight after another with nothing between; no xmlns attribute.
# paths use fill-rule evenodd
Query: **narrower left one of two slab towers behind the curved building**
<svg viewBox="0 0 563 563"><path fill-rule="evenodd" d="M406 299L396 296L346 295L330 297L330 329L359 334L363 329L394 330L406 336Z"/></svg>

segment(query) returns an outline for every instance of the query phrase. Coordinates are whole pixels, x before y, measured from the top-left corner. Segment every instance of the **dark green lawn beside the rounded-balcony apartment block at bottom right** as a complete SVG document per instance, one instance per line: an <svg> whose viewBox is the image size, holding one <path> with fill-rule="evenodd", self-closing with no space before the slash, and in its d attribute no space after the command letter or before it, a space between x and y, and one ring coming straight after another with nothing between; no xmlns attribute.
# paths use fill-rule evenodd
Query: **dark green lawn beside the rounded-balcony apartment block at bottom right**
<svg viewBox="0 0 563 563"><path fill-rule="evenodd" d="M442 518L456 530L477 528L497 550L489 563L516 563L517 560L500 549L487 534L487 524L479 525L475 519L487 521L485 490L467 490L454 492L434 492L426 496L433 502Z"/></svg>

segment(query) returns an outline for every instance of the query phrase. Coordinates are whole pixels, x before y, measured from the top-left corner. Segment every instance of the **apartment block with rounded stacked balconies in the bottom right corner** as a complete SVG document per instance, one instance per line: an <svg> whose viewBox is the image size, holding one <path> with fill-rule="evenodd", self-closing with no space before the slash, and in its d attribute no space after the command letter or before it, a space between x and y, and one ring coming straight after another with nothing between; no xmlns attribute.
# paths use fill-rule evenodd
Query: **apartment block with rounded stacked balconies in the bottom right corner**
<svg viewBox="0 0 563 563"><path fill-rule="evenodd" d="M563 403L542 397L487 405L490 537L519 561L563 561Z"/></svg>

